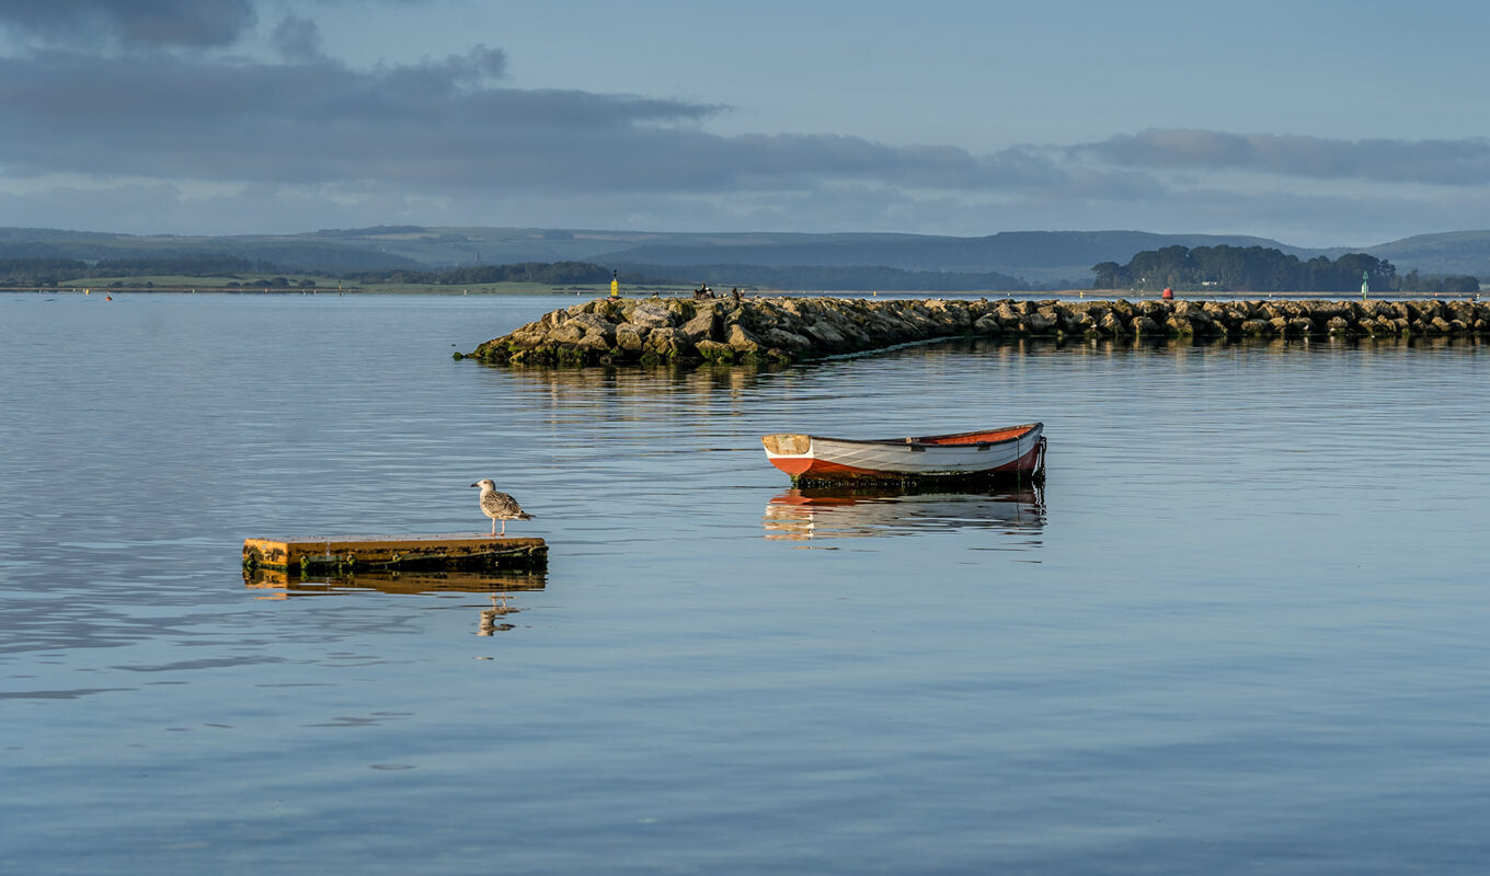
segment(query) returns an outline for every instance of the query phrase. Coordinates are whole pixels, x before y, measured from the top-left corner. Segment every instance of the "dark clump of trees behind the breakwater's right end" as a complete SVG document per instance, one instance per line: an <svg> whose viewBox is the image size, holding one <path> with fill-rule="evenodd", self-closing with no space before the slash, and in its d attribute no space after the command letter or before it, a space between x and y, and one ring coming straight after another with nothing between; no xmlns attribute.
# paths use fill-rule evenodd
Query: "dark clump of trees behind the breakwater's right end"
<svg viewBox="0 0 1490 876"><path fill-rule="evenodd" d="M1471 276L1398 276L1392 262L1365 253L1338 259L1316 256L1299 261L1261 246L1167 246L1144 250L1126 265L1092 265L1095 289L1159 291L1165 288L1211 292L1354 292L1362 277L1377 292L1478 292Z"/></svg>

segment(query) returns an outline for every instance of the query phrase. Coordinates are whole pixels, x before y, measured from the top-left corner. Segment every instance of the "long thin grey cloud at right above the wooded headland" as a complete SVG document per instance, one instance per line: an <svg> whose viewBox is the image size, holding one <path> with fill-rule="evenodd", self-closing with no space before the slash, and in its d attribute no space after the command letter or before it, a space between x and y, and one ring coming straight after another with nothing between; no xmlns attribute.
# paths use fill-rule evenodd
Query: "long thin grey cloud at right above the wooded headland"
<svg viewBox="0 0 1490 876"><path fill-rule="evenodd" d="M1490 139L1331 140L1287 134L1147 130L1071 149L1118 167L1247 170L1308 179L1430 185L1490 182Z"/></svg>

